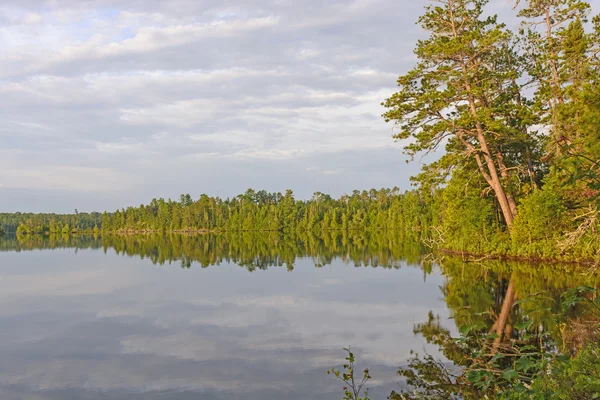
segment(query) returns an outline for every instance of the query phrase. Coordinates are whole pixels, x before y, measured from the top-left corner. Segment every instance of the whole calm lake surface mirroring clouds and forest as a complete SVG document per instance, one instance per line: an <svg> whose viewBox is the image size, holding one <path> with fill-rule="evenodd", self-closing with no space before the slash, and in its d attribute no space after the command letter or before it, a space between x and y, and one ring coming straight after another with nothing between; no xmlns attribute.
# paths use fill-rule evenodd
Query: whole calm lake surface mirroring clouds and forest
<svg viewBox="0 0 600 400"><path fill-rule="evenodd" d="M458 334L509 281L552 301L591 279L323 236L0 239L0 398L339 399L326 370L350 346L383 399L411 350L443 357L413 332L430 312Z"/></svg>

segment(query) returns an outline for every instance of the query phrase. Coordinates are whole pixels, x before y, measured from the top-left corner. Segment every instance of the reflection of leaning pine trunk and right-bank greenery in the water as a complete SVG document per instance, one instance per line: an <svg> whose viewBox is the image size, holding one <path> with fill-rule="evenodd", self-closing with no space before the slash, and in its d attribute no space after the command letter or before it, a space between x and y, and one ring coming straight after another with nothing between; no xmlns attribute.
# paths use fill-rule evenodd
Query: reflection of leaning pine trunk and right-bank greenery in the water
<svg viewBox="0 0 600 400"><path fill-rule="evenodd" d="M597 286L596 276L578 273L574 266L506 261L465 264L450 258L441 267L446 276L444 296L457 326L495 334L494 347L519 340L523 331L515 326L524 321L532 321L528 333L551 333L561 346L572 345L563 343L568 330L555 319L562 312L561 296L572 288ZM577 311L570 310L570 315Z"/></svg>

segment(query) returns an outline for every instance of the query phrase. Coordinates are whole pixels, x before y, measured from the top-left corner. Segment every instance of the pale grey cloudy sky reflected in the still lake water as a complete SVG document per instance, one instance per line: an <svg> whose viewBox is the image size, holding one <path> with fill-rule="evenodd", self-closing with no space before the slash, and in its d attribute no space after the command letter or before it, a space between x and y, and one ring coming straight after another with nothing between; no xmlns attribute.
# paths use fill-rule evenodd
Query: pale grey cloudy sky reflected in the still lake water
<svg viewBox="0 0 600 400"><path fill-rule="evenodd" d="M244 388L248 399L300 399L307 387L337 388L323 371L347 345L393 386L395 368L422 347L413 323L430 309L446 315L440 277L423 282L416 268L318 269L301 259L292 273L249 274L227 264L180 270L100 252L44 254L19 254L20 264L2 271L0 394L7 385L234 397Z"/></svg>

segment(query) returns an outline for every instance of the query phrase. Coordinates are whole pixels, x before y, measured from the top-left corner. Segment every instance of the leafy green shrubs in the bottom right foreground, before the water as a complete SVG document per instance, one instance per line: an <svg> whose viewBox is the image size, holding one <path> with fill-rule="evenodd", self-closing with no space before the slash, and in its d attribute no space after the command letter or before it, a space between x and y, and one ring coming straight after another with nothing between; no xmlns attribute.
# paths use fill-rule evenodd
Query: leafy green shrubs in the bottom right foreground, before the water
<svg viewBox="0 0 600 400"><path fill-rule="evenodd" d="M407 379L409 389L393 393L390 398L600 398L597 290L588 286L569 289L557 299L560 307L554 307L551 318L555 326L563 323L575 327L577 319L584 317L592 318L595 325L583 348L573 356L557 354L558 338L550 330L540 328L546 325L536 316L546 313L543 299L537 293L524 297L518 305L515 303L513 318L521 321L514 323L514 333L506 338L493 332L494 328L490 330L489 322L478 318L475 323L465 325L464 320L459 323L460 337L455 338L430 313L428 322L418 324L415 333L435 344L453 365L431 355L415 356L408 368L399 371ZM530 307L524 307L527 303Z"/></svg>

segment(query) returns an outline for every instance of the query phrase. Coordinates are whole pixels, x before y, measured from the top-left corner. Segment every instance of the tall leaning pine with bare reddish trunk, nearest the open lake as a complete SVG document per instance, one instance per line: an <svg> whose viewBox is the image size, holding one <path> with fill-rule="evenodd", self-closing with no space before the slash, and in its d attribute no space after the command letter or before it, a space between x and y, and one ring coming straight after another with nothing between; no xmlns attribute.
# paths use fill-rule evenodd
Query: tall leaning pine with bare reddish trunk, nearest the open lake
<svg viewBox="0 0 600 400"><path fill-rule="evenodd" d="M483 16L486 3L440 0L426 7L419 22L429 38L418 42L419 62L398 79L401 89L384 103L384 117L400 126L396 139L413 139L407 154L446 143L438 166L478 171L510 228L517 211L511 174L524 169L525 149L536 139L516 84L522 72L513 37L495 16Z"/></svg>

